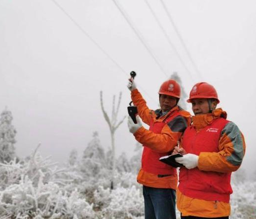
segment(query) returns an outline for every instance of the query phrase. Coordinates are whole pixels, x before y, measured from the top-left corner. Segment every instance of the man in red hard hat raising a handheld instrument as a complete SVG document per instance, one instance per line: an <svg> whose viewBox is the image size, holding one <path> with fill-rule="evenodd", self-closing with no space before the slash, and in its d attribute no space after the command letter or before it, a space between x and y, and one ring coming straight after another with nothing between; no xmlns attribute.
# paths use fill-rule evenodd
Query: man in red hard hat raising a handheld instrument
<svg viewBox="0 0 256 219"><path fill-rule="evenodd" d="M137 124L128 117L130 132L144 146L137 181L143 185L145 219L176 219L177 171L160 162L159 158L170 155L190 124L190 114L177 105L181 95L180 85L175 80L165 81L161 85L158 92L161 108L155 111L146 106L133 79L127 87L139 116L149 125L147 130L139 116L136 117Z"/></svg>

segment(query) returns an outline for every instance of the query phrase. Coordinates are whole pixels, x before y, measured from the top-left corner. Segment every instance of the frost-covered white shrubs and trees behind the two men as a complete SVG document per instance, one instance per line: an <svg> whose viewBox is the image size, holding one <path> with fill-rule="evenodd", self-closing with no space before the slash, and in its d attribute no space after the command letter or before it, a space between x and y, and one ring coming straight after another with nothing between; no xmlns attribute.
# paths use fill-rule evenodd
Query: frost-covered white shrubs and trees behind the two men
<svg viewBox="0 0 256 219"><path fill-rule="evenodd" d="M1 116L0 219L144 218L142 188L136 181L141 145L135 146L133 157L122 154L115 160L113 177L111 150L105 153L95 132L83 155L73 150L60 168L50 157L40 156L39 145L30 156L15 158L11 113L6 110ZM243 170L233 174L232 182L230 219L255 219L256 182L246 180Z"/></svg>

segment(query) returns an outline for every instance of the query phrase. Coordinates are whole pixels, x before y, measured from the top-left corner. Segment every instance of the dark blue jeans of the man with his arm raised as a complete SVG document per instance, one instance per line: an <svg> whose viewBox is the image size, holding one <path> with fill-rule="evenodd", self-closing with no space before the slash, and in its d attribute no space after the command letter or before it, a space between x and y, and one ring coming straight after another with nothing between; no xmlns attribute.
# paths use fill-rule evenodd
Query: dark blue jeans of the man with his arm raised
<svg viewBox="0 0 256 219"><path fill-rule="evenodd" d="M176 219L176 191L143 186L145 219Z"/></svg>

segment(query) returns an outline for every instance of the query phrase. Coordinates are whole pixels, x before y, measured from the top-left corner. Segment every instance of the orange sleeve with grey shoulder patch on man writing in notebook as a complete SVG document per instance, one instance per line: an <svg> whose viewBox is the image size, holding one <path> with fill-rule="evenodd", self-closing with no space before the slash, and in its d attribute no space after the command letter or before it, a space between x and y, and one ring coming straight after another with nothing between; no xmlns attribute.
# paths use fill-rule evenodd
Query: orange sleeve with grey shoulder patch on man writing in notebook
<svg viewBox="0 0 256 219"><path fill-rule="evenodd" d="M232 122L225 125L219 139L219 152L201 152L198 168L203 171L232 172L236 171L245 155L244 136Z"/></svg>

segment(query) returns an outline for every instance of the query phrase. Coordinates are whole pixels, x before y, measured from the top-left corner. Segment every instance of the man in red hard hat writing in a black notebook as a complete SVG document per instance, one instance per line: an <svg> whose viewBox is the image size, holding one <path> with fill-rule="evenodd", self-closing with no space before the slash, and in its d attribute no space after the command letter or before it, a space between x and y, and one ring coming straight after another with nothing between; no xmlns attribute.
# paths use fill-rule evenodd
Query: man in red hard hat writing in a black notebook
<svg viewBox="0 0 256 219"><path fill-rule="evenodd" d="M236 171L245 154L245 141L237 125L216 109L215 88L205 82L193 86L187 102L195 116L184 131L183 157L175 158L180 168L177 207L182 219L228 219L231 172Z"/></svg>

